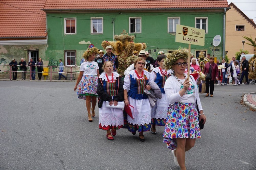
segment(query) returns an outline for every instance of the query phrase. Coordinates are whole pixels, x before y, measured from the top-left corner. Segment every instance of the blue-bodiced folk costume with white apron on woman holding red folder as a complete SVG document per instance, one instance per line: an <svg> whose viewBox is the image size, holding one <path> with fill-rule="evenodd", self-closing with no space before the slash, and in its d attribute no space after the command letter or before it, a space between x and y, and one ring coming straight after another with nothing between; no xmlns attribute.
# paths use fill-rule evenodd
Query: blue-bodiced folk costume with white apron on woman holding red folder
<svg viewBox="0 0 256 170"><path fill-rule="evenodd" d="M124 128L130 132L145 132L151 128L151 107L145 87L153 81L152 75L144 70L144 77L139 79L135 70L131 70L124 78L124 90L128 92L129 104L134 107L134 118L124 115Z"/></svg>

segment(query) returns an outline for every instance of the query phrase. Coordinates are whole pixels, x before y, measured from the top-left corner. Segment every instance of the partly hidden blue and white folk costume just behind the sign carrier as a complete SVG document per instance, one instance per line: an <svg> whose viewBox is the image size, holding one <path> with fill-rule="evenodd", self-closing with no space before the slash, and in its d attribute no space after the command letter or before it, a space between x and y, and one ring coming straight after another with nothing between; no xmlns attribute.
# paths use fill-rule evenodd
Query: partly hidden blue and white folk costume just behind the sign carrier
<svg viewBox="0 0 256 170"><path fill-rule="evenodd" d="M151 72L155 83L158 85L162 92L162 98L157 99L156 105L151 108L151 124L153 125L165 126L169 101L166 98L164 86L167 78L170 77L172 72L172 70L161 70L160 67L154 68Z"/></svg>

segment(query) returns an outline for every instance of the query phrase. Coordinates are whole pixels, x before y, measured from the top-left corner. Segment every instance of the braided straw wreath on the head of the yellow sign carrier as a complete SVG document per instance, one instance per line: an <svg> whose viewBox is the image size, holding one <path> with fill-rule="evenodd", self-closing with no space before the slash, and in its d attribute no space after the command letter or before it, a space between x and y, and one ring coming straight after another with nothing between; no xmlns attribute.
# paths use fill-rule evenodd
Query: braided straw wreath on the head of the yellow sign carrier
<svg viewBox="0 0 256 170"><path fill-rule="evenodd" d="M187 61L188 59L188 50L187 49L178 49L173 51L170 55L167 55L167 57L164 60L165 69L169 70L172 69L173 64L182 58L183 60Z"/></svg>

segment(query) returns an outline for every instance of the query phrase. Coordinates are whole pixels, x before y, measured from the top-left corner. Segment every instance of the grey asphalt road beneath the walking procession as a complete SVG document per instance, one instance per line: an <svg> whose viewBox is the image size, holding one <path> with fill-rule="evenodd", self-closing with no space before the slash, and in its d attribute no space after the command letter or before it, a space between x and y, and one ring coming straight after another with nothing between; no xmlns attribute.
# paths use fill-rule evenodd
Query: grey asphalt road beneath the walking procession
<svg viewBox="0 0 256 170"><path fill-rule="evenodd" d="M139 141L120 129L114 141L88 122L75 82L0 81L0 170L178 170L157 135ZM188 170L256 169L256 112L240 103L256 85L215 86L200 94L207 123L186 152Z"/></svg>

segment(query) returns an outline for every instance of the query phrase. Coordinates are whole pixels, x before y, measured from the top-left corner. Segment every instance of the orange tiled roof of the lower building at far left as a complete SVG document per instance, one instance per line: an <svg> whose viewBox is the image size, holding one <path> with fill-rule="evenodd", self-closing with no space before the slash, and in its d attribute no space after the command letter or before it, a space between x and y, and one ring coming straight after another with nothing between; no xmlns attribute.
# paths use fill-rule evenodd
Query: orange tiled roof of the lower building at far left
<svg viewBox="0 0 256 170"><path fill-rule="evenodd" d="M46 37L45 0L1 0L0 37Z"/></svg>

